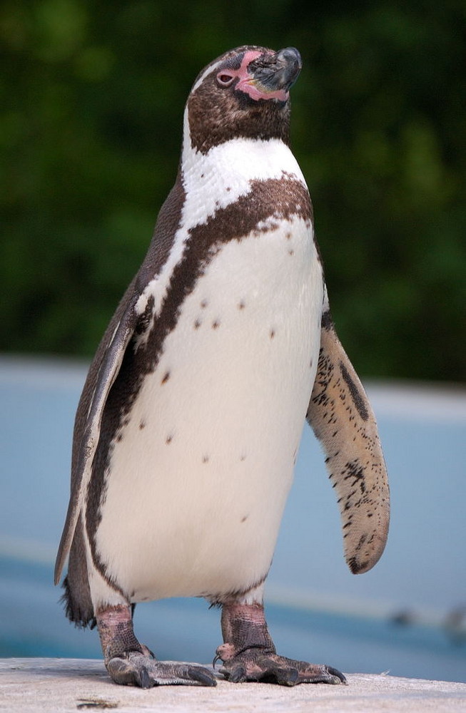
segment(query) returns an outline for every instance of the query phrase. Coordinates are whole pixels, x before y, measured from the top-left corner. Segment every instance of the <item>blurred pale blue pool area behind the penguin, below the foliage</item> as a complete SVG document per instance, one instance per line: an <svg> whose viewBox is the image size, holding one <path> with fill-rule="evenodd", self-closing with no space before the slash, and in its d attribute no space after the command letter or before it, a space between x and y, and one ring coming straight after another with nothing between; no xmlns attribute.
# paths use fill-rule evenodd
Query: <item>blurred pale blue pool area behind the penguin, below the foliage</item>
<svg viewBox="0 0 466 713"><path fill-rule="evenodd" d="M69 493L74 411L84 367L0 359L0 655L100 657L96 632L65 620L51 584ZM463 392L370 390L390 471L387 549L354 577L341 554L334 493L305 430L268 579L279 652L346 672L466 682L466 637L442 622L466 603L466 398ZM408 625L392 615L410 612ZM161 658L212 660L219 612L203 600L139 605L136 630Z"/></svg>

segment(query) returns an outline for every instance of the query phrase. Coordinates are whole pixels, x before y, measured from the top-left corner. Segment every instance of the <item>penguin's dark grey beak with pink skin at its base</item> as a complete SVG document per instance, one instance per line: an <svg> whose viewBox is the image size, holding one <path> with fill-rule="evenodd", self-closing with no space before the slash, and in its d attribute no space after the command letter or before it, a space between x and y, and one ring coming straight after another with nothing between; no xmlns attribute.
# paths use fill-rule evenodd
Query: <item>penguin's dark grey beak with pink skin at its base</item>
<svg viewBox="0 0 466 713"><path fill-rule="evenodd" d="M249 84L252 84L264 97L279 93L276 98L288 99L288 91L298 79L303 61L300 53L294 47L280 49L273 55L262 55L248 66L252 74ZM272 98L272 97L270 97Z"/></svg>

